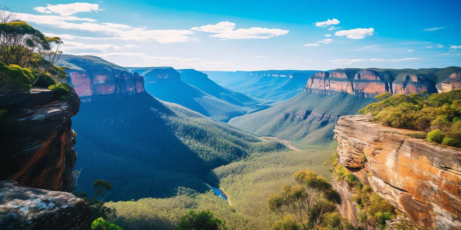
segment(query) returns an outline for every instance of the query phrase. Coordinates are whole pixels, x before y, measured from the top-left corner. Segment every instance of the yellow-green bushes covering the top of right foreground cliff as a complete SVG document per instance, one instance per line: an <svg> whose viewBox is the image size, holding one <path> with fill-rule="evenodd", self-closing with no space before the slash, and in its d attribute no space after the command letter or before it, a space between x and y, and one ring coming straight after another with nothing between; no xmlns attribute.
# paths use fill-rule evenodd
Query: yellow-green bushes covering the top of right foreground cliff
<svg viewBox="0 0 461 230"><path fill-rule="evenodd" d="M386 94L387 95L387 94ZM378 97L381 95L378 95ZM360 110L390 127L428 132L427 141L454 147L461 142L461 90L395 94ZM422 138L420 134L415 138Z"/></svg>

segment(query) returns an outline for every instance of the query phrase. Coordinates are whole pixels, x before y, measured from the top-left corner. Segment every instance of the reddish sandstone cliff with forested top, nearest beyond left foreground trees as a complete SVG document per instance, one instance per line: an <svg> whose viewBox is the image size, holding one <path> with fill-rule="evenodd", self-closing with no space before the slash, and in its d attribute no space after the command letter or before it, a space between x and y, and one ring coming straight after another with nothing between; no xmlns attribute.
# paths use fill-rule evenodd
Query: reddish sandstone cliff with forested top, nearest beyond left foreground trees
<svg viewBox="0 0 461 230"><path fill-rule="evenodd" d="M95 95L144 92L142 76L100 57L62 55L59 64L70 68L66 72L82 101Z"/></svg>

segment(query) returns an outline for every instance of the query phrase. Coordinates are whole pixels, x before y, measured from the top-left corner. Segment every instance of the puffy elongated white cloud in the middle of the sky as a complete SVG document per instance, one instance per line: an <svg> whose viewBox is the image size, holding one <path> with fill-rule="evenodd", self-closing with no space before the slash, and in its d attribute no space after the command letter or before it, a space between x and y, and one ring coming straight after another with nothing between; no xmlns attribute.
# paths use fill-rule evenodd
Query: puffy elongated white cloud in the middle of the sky
<svg viewBox="0 0 461 230"><path fill-rule="evenodd" d="M191 30L203 31L208 33L214 33L210 37L218 37L221 39L268 39L279 35L286 35L289 30L284 29L267 29L260 27L252 27L249 29L235 29L235 23L220 22L215 25L204 25L201 27L193 27Z"/></svg>

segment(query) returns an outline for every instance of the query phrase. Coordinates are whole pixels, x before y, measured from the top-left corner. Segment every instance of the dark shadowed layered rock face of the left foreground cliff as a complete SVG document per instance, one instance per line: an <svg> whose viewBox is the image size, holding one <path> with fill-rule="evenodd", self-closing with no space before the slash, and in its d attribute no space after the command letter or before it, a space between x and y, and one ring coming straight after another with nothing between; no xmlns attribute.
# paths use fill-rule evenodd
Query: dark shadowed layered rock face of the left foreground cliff
<svg viewBox="0 0 461 230"><path fill-rule="evenodd" d="M53 91L34 87L29 92L0 95L0 108L18 119L17 143L2 146L0 180L22 186L70 191L77 154L71 117L80 99L71 91L67 101L53 99Z"/></svg>

